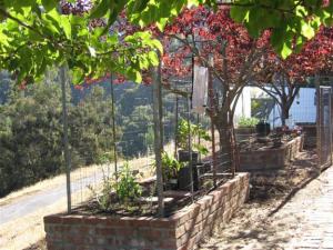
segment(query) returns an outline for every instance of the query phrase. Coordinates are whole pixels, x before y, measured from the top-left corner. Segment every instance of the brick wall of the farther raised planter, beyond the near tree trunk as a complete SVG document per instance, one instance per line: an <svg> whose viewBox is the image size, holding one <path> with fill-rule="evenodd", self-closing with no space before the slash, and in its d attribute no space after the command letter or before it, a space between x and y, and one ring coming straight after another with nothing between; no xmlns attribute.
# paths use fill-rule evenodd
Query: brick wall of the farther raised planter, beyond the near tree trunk
<svg viewBox="0 0 333 250"><path fill-rule="evenodd" d="M303 149L303 136L297 137L278 149L263 149L240 152L241 171L265 171L282 169Z"/></svg>

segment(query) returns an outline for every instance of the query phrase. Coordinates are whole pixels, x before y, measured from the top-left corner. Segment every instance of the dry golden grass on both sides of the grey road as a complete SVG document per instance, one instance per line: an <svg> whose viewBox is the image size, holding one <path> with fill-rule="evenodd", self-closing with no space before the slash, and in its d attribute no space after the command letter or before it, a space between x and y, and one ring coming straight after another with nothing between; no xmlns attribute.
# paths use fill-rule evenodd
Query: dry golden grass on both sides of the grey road
<svg viewBox="0 0 333 250"><path fill-rule="evenodd" d="M120 161L121 166L124 161ZM153 173L151 167L153 162L153 156L138 158L129 161L132 169L138 169L143 172L144 177ZM112 168L112 166L111 166ZM97 172L105 169L105 166L91 166L80 168L71 172L72 181L79 181L82 178L93 176ZM52 190L56 187L65 187L65 174L38 182L31 187L23 188L9 196L0 199L0 206L17 202L20 199L26 199L27 196L38 194L41 191ZM91 196L89 189L83 188L82 190L72 193L73 203L78 204L80 201L87 200ZM44 249L44 230L43 230L43 217L57 212L65 211L67 199L63 198L51 206L40 208L33 213L21 217L13 221L7 222L0 226L0 250L22 250L22 249Z"/></svg>

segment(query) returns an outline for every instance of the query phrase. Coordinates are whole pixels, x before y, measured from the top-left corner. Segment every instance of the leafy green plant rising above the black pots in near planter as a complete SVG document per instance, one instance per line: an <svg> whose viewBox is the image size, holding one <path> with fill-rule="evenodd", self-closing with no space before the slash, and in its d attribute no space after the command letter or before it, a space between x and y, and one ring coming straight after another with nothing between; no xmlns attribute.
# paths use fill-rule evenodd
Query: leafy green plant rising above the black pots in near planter
<svg viewBox="0 0 333 250"><path fill-rule="evenodd" d="M208 154L209 150L206 147L195 143L195 137L200 137L201 140L211 141L211 137L209 136L208 131L205 131L201 126L193 124L184 119L181 119L178 126L178 134L176 134L176 142L178 147L182 150L189 150L189 134L191 132L192 137L192 149L196 150L201 154Z"/></svg>

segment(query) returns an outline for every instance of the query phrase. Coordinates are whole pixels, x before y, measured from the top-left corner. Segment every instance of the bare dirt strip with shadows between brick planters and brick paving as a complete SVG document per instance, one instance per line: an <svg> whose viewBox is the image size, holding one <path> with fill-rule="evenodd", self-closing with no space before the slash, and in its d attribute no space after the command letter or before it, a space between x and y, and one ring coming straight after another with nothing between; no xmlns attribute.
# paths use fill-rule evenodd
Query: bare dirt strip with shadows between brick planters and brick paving
<svg viewBox="0 0 333 250"><path fill-rule="evenodd" d="M249 202L206 238L200 250L286 249L303 219L297 213L302 201L296 201L297 209L289 201L319 176L316 159L313 151L304 151L284 170L252 174Z"/></svg>

